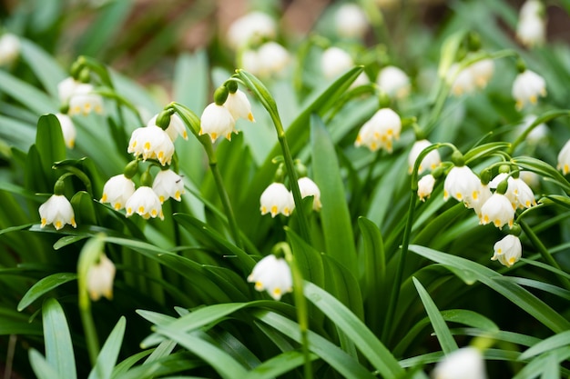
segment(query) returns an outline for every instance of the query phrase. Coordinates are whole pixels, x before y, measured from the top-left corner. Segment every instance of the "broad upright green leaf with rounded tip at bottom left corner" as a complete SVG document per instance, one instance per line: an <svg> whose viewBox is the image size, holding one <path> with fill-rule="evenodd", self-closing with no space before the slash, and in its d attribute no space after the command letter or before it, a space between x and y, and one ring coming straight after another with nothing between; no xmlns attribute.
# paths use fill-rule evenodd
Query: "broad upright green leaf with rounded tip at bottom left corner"
<svg viewBox="0 0 570 379"><path fill-rule="evenodd" d="M42 307L46 361L59 379L76 379L76 359L67 327L66 314L56 299L47 299Z"/></svg>

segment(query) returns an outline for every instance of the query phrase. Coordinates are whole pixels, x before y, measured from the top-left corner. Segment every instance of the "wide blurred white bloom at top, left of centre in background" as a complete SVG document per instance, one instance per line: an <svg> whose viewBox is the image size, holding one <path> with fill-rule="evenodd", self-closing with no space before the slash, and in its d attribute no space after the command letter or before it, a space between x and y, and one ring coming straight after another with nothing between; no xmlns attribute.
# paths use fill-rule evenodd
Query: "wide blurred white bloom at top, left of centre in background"
<svg viewBox="0 0 570 379"><path fill-rule="evenodd" d="M263 38L272 39L277 32L275 20L263 12L251 12L235 20L228 29L228 42L238 49L244 45L259 43Z"/></svg>

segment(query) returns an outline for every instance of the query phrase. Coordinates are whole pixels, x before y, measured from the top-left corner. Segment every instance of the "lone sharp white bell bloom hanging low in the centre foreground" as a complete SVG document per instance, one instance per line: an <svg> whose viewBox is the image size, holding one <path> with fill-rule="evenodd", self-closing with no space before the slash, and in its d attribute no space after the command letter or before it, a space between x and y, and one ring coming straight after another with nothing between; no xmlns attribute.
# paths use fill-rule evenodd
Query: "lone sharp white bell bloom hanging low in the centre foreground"
<svg viewBox="0 0 570 379"><path fill-rule="evenodd" d="M248 276L249 283L255 283L258 291L266 290L275 300L293 290L293 278L289 264L283 258L270 254L253 267Z"/></svg>

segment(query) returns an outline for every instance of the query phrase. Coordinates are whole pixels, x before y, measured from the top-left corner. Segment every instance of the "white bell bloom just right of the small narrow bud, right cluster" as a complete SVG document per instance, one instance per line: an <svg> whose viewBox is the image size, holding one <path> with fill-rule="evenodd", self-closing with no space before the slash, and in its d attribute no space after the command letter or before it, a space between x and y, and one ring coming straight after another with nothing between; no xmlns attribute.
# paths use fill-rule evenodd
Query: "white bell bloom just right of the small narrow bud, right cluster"
<svg viewBox="0 0 570 379"><path fill-rule="evenodd" d="M453 197L465 206L472 207L472 203L479 200L481 193L481 180L466 165L453 166L443 182L443 200Z"/></svg>

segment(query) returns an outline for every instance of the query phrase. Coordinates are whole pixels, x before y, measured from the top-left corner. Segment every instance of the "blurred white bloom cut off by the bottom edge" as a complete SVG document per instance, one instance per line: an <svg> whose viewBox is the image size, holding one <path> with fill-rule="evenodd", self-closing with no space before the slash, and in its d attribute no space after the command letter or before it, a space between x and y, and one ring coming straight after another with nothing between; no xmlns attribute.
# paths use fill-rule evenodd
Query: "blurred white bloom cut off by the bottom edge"
<svg viewBox="0 0 570 379"><path fill-rule="evenodd" d="M483 354L463 347L448 354L433 369L433 379L486 379Z"/></svg>

